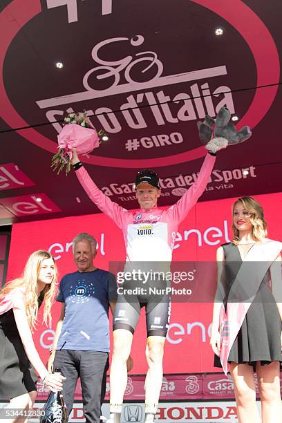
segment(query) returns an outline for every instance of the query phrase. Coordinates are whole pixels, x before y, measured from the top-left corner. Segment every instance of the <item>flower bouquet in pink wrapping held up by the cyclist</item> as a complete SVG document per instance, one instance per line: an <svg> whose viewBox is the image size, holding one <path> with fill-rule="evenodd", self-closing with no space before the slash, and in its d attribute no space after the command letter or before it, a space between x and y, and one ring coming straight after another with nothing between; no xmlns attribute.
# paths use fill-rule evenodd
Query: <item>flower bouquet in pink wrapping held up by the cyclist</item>
<svg viewBox="0 0 282 423"><path fill-rule="evenodd" d="M59 151L53 156L51 168L58 169L59 174L66 167L66 174L71 170L72 149L77 149L77 154L88 154L93 149L99 147L100 137L106 140L104 131L97 131L92 126L86 111L78 113L68 113L64 118L64 128L58 135Z"/></svg>

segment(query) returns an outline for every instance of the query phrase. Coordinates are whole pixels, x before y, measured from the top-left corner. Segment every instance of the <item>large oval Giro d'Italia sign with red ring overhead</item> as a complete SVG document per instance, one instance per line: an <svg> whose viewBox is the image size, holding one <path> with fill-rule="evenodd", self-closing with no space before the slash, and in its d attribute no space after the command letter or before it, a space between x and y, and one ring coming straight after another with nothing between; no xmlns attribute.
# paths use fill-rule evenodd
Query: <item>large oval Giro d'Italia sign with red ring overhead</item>
<svg viewBox="0 0 282 423"><path fill-rule="evenodd" d="M178 164L205 155L196 121L206 113L238 108L240 126L254 128L274 101L277 86L233 94L279 82L272 35L241 0L143 0L134 6L118 0L28 0L28 8L21 6L12 0L0 13L0 111L12 128L50 122L19 131L42 149L55 152L62 130L56 121L85 109L110 140L84 161L126 169ZM209 43L200 49L193 40L195 32L211 37L205 22L214 15L227 28L232 54L218 46L211 58L205 52ZM53 62L60 52L64 69L58 73Z"/></svg>

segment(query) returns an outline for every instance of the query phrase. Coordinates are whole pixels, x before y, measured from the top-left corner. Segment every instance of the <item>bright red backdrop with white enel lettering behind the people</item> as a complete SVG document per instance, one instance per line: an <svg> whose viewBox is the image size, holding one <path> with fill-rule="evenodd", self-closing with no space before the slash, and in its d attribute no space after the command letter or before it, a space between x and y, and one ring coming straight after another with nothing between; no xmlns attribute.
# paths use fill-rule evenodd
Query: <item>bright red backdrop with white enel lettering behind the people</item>
<svg viewBox="0 0 282 423"><path fill-rule="evenodd" d="M282 193L256 196L265 209L270 238L282 239ZM214 261L216 248L231 238L231 208L233 198L198 203L178 228L173 261ZM191 231L191 229L194 229ZM190 231L190 232L189 232ZM33 223L18 223L12 227L12 241L8 263L8 280L21 273L28 255L39 248L50 250L55 256L59 274L75 271L71 240L78 232L89 232L98 241L95 265L107 269L109 262L124 260L122 232L103 214L58 218ZM207 281L203 280L203 286ZM203 288L204 289L204 288ZM213 289L213 288L212 288ZM38 326L35 343L46 360L53 341L59 316L59 304L53 307L51 330ZM209 325L212 303L174 303L171 324L165 347L164 372L189 373L216 370L209 347ZM144 348L146 331L144 312L133 339L133 373L145 373Z"/></svg>

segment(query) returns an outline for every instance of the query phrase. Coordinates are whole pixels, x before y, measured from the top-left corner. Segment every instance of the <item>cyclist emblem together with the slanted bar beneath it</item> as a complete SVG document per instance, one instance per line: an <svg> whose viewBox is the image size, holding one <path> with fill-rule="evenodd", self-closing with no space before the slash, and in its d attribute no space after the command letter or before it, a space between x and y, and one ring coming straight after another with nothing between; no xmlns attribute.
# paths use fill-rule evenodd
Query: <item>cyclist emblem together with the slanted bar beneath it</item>
<svg viewBox="0 0 282 423"><path fill-rule="evenodd" d="M122 93L132 93L133 91L155 88L157 86L167 86L171 84L180 84L182 82L195 81L203 77L216 77L227 75L226 66L216 66L214 68L200 69L199 71L190 71L176 73L174 75L162 76L164 66L158 55L153 51L143 51L128 55L118 60L102 59L104 48L111 51L117 51L118 47L125 47L122 41L126 41L129 48L142 46L144 37L136 35L135 37L116 37L100 41L93 47L91 55L98 66L91 68L86 72L82 79L85 91L62 95L59 97L38 100L37 106L40 109L46 107L59 106L61 104L73 104L83 100L106 97L108 95L117 95ZM120 44L119 44L120 43ZM134 76L133 76L134 71ZM138 80L138 77L140 80Z"/></svg>

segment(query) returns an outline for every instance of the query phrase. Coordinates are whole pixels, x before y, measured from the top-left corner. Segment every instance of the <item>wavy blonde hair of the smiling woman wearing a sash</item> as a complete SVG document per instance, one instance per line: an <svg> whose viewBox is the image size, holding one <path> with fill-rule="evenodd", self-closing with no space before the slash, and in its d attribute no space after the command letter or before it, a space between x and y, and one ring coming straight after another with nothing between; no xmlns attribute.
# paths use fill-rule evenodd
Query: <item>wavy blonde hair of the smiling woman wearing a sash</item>
<svg viewBox="0 0 282 423"><path fill-rule="evenodd" d="M250 214L250 222L252 223L252 238L254 241L262 241L267 236L267 223L264 219L263 207L252 197L241 197L235 201L232 207L232 216L234 209L238 203L241 203L244 209ZM239 242L239 230L232 222L232 230L234 239L232 243L238 244Z"/></svg>

